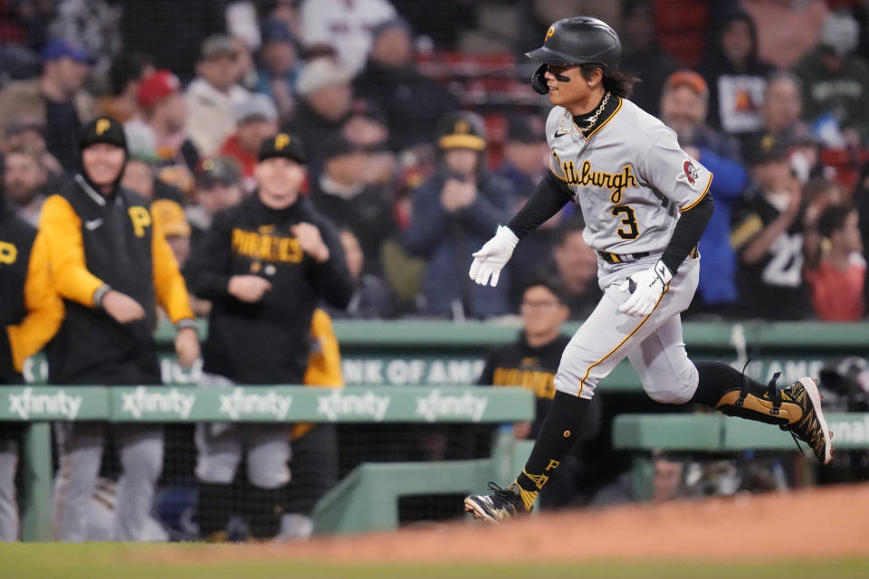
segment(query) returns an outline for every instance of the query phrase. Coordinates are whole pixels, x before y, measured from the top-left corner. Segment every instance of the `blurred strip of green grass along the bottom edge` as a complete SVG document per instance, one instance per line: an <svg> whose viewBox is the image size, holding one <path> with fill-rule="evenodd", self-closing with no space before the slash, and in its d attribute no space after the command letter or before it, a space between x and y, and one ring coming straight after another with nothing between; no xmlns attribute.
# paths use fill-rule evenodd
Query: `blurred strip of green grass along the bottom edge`
<svg viewBox="0 0 869 579"><path fill-rule="evenodd" d="M238 560L234 559L234 553ZM335 564L264 560L237 546L10 545L0 546L3 579L866 579L869 558L736 563L704 561L475 564ZM182 559L163 563L164 559Z"/></svg>

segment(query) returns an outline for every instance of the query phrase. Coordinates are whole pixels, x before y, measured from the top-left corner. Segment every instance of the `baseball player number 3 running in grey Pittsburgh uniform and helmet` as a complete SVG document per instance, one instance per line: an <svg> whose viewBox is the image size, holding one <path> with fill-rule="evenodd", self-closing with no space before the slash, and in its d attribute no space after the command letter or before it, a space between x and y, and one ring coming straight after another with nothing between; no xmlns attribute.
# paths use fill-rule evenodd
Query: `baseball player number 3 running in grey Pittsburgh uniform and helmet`
<svg viewBox="0 0 869 579"><path fill-rule="evenodd" d="M470 275L496 285L520 239L573 201L597 252L604 297L561 356L557 392L525 468L507 489L490 484L492 494L464 499L476 518L499 522L530 511L573 446L597 384L625 356L657 402L703 403L778 424L806 441L820 463L831 458L814 380L779 389L775 379L764 386L730 365L688 358L680 313L697 288L712 176L672 130L626 99L638 79L619 71L621 52L610 26L578 16L552 24L543 46L528 53L540 62L531 85L555 105L546 123L550 171L473 254Z"/></svg>

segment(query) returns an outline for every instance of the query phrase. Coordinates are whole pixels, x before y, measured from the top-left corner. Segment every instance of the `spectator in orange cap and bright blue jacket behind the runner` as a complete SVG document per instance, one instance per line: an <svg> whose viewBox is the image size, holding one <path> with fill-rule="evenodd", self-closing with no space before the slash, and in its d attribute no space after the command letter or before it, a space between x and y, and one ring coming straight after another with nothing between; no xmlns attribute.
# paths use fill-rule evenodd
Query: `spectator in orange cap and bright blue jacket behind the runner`
<svg viewBox="0 0 869 579"><path fill-rule="evenodd" d="M737 299L731 205L742 195L749 175L739 162L735 139L706 125L709 94L697 72L673 72L664 83L661 120L675 131L680 147L715 176L710 187L715 213L700 240L701 281L691 313L726 315Z"/></svg>

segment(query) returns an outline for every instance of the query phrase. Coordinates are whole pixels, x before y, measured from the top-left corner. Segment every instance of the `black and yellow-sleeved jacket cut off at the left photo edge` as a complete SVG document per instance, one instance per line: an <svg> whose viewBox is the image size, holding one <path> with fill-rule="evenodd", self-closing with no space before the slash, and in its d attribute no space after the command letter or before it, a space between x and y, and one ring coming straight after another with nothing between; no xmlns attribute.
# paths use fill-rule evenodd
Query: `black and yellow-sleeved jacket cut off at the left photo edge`
<svg viewBox="0 0 869 579"><path fill-rule="evenodd" d="M24 360L43 348L63 318L43 236L0 195L0 384L22 384Z"/></svg>

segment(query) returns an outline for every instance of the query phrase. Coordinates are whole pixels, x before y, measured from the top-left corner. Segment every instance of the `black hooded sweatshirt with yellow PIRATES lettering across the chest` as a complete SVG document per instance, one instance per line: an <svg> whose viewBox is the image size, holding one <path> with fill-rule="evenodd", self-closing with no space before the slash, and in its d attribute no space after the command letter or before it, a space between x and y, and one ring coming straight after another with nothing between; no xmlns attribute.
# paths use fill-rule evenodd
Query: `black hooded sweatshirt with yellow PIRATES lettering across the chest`
<svg viewBox="0 0 869 579"><path fill-rule="evenodd" d="M329 260L305 255L291 226L316 225ZM282 210L266 207L253 193L215 215L186 267L196 296L211 299L205 372L240 384L302 384L310 350L310 318L320 299L346 308L353 295L338 233L306 198ZM272 283L257 303L232 297L234 275L260 275Z"/></svg>

